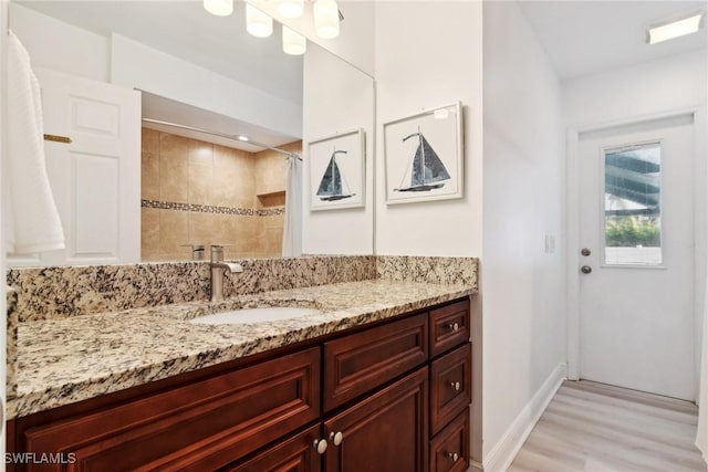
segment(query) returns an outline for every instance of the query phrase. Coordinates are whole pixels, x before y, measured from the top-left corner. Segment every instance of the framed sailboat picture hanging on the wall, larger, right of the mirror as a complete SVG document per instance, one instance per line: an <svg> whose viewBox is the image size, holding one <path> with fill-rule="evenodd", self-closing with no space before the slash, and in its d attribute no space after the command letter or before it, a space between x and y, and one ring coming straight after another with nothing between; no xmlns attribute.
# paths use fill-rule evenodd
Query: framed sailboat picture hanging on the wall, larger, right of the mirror
<svg viewBox="0 0 708 472"><path fill-rule="evenodd" d="M386 203L462 197L459 102L384 124Z"/></svg>

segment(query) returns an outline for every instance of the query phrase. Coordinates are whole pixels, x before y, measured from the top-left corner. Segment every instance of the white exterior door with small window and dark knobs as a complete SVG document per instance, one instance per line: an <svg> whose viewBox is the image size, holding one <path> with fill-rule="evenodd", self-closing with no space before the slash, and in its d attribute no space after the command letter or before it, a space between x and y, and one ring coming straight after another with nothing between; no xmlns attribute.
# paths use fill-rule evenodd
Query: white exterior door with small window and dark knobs
<svg viewBox="0 0 708 472"><path fill-rule="evenodd" d="M581 134L577 168L580 377L695 399L693 115Z"/></svg>

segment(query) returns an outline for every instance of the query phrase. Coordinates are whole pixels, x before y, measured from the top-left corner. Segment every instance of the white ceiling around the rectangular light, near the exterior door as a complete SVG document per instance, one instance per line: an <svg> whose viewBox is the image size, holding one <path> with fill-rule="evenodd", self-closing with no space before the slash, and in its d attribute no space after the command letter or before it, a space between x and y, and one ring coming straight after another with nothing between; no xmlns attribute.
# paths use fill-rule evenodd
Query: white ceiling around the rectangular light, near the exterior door
<svg viewBox="0 0 708 472"><path fill-rule="evenodd" d="M561 80L706 49L707 28L659 44L645 42L648 25L707 10L704 1L535 1L521 10Z"/></svg>

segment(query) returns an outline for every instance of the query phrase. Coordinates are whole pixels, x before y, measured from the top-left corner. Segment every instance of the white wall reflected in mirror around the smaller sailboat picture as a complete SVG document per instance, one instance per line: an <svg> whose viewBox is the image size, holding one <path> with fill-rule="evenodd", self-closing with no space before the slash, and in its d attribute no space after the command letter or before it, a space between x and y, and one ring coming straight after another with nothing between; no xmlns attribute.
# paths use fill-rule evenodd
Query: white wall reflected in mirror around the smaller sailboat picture
<svg viewBox="0 0 708 472"><path fill-rule="evenodd" d="M310 211L310 161L303 148L303 243L305 254L374 252L374 80L319 46L305 54L303 81L304 143L364 128L366 137L365 208ZM316 178L316 177L315 177Z"/></svg>

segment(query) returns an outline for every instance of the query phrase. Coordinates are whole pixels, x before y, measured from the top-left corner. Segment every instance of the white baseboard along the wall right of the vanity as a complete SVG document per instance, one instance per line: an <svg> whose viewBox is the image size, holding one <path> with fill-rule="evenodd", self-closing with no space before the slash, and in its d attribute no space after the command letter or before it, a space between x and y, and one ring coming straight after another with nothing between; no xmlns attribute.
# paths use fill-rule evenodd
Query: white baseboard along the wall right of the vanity
<svg viewBox="0 0 708 472"><path fill-rule="evenodd" d="M504 472L509 469L563 380L565 364L559 364L485 458L486 472Z"/></svg>

